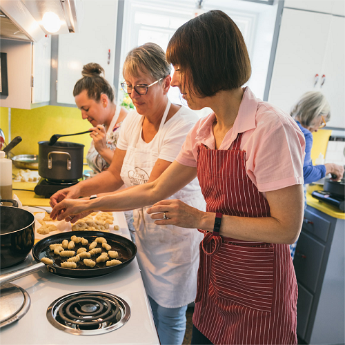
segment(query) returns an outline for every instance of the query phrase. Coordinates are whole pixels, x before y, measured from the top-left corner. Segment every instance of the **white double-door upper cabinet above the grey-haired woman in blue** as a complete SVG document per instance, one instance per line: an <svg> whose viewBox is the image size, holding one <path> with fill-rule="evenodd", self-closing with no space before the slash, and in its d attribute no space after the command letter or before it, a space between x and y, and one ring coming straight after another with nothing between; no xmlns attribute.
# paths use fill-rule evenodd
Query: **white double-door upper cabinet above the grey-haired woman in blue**
<svg viewBox="0 0 345 345"><path fill-rule="evenodd" d="M344 128L344 18L284 8L268 101L286 112L304 92L331 105L328 126Z"/></svg>

